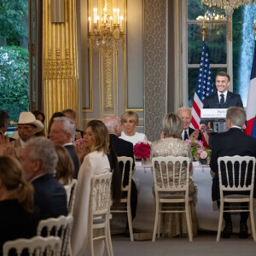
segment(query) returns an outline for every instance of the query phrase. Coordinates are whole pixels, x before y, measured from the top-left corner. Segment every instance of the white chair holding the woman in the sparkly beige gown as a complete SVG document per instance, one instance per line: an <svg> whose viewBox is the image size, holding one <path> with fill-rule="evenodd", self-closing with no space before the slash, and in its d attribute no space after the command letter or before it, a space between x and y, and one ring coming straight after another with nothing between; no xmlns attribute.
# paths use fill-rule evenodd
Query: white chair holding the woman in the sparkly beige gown
<svg viewBox="0 0 256 256"><path fill-rule="evenodd" d="M188 157L160 156L152 159L156 202L152 241L155 241L157 230L158 237L160 237L160 215L163 212L185 212L189 241L193 241L190 216L192 198L189 196L189 162ZM162 207L163 203L166 204L166 207Z"/></svg>

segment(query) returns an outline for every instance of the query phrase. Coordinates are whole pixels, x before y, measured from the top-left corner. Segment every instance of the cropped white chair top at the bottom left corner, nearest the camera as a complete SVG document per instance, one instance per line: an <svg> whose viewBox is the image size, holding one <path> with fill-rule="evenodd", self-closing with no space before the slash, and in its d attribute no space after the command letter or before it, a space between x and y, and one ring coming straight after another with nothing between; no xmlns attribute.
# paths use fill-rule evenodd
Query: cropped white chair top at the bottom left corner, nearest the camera
<svg viewBox="0 0 256 256"><path fill-rule="evenodd" d="M3 244L3 256L8 256L9 253L20 256L27 249L29 256L32 255L47 255L59 256L61 252L61 239L59 237L49 236L34 236L31 239L16 239L14 241L6 241Z"/></svg>

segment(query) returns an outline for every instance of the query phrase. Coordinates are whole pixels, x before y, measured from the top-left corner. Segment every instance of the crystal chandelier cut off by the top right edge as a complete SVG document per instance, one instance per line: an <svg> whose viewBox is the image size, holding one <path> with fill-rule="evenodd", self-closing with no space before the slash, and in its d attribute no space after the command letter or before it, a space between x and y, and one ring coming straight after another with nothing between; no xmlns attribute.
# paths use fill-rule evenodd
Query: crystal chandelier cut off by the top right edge
<svg viewBox="0 0 256 256"><path fill-rule="evenodd" d="M241 5L248 5L249 3L255 4L256 0L201 0L201 3L204 3L209 7L220 7L225 10L226 15L232 15L234 9L237 9Z"/></svg>

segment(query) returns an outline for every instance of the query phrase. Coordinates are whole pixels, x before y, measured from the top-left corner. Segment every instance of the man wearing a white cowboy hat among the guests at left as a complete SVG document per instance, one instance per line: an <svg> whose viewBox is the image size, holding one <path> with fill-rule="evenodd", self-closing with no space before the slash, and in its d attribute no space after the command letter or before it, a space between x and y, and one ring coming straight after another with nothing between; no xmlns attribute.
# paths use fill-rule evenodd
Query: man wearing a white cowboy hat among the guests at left
<svg viewBox="0 0 256 256"><path fill-rule="evenodd" d="M31 137L36 137L36 133L44 130L44 125L37 120L31 112L21 112L19 122L10 121L12 125L16 125L19 138L15 140L15 155L20 156L20 149L26 148L26 142Z"/></svg>

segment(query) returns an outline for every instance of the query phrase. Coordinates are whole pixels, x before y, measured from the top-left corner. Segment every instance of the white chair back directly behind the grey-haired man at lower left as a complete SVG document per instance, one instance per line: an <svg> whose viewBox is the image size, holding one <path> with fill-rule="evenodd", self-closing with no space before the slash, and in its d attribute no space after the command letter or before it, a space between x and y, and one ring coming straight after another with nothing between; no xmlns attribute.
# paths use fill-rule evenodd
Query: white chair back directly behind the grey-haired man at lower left
<svg viewBox="0 0 256 256"><path fill-rule="evenodd" d="M38 236L59 236L61 238L61 256L70 254L69 241L73 227L73 216L47 218L38 223Z"/></svg>

